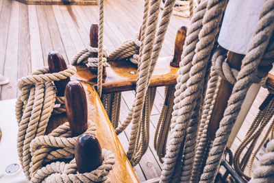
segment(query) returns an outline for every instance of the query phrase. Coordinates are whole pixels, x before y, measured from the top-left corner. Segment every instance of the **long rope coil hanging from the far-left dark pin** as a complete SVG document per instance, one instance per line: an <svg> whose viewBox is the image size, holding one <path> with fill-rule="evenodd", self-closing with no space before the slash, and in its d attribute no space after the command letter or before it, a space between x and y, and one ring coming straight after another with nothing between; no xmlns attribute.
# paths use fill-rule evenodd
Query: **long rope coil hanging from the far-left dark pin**
<svg viewBox="0 0 274 183"><path fill-rule="evenodd" d="M36 136L45 133L47 122L55 105L53 81L64 80L76 72L73 66L59 73L49 73L42 68L27 77L18 80L21 93L16 101L16 119L18 122L17 149L23 171L29 177L29 144ZM62 101L58 99L58 101Z"/></svg>

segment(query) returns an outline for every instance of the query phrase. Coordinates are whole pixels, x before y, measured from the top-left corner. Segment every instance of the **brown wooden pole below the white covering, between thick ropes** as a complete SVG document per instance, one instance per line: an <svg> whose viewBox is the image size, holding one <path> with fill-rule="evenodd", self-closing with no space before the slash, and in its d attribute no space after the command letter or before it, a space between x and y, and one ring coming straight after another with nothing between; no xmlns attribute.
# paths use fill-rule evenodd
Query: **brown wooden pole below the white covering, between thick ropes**
<svg viewBox="0 0 274 183"><path fill-rule="evenodd" d="M240 70L242 58L244 58L244 55L229 51L227 62L232 68ZM210 140L214 139L216 130L219 128L219 123L223 118L223 112L225 112L225 108L227 107L227 101L232 94L233 86L234 85L227 82L227 80L221 80L219 92L216 96L216 101L208 125L208 138Z"/></svg>

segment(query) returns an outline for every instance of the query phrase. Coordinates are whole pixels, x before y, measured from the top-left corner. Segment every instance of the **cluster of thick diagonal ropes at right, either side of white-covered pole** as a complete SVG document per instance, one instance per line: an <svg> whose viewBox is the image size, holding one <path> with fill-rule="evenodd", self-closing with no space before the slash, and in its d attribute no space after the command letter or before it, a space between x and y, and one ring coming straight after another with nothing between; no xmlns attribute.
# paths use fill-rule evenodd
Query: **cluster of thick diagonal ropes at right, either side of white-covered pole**
<svg viewBox="0 0 274 183"><path fill-rule="evenodd" d="M218 84L214 68L212 68L210 72L210 82L208 83L207 81L207 70L210 65L208 60L211 57L210 53L214 53L214 49L216 49L216 46L214 46L216 44L215 38L219 34L219 27L226 3L227 1L201 1L192 16L191 26L188 29L184 45L183 60L178 71L177 85L175 86L175 105L171 119L171 139L164 158L161 182L176 180L174 175L178 174L176 171L181 170L180 180L182 182L188 182L190 180L192 182L199 181L199 172L203 167L201 167L203 162L199 162L199 160L206 158L206 167L203 168L200 181L214 182L227 139L236 121L242 101L245 99L247 89L252 82L260 82L262 77L267 75L273 63L273 51L269 49L273 47L273 41L269 40L273 34L274 27L274 1L269 0L265 2L262 8L260 20L249 44L249 51L242 61L242 69L238 75L234 71L225 73L225 76L232 75L236 78L236 80L232 82L235 83L235 85L232 96L228 101L224 117L221 120L220 128L216 132L216 138L212 142L212 147L208 147L208 145L206 145L208 141L206 139L207 136L204 132L207 130L208 120L210 119L208 119L208 116L210 116L211 106L216 98L214 97L216 93L212 88L217 87L216 85ZM225 60L225 53L215 53L213 54L215 58L212 60ZM262 59L265 56L267 56L267 59ZM268 60L268 62L265 60ZM227 70L227 65L225 64L216 62L215 66L216 65L221 65L222 68ZM211 82L215 84L211 85ZM207 97L206 100L204 100L205 90L201 90L201 88L206 88L207 83ZM205 105L203 105L203 103L205 103ZM200 117L197 113L199 113L202 108L202 120L199 122ZM195 124L193 121L200 123L200 127L198 128L197 125L192 125ZM196 133L198 129L199 132L197 136ZM197 150L191 145L191 143L196 142L196 139L198 139ZM203 154L203 149L205 148L210 148L208 155ZM193 157L194 165L191 163ZM175 169L175 164L179 164L179 169Z"/></svg>

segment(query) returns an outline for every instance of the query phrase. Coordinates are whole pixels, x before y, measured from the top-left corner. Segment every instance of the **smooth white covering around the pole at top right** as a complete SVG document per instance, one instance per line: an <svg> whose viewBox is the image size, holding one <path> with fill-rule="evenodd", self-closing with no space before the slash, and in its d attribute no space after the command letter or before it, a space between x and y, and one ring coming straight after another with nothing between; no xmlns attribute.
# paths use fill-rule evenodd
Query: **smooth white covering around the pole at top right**
<svg viewBox="0 0 274 183"><path fill-rule="evenodd" d="M264 0L229 0L218 42L234 53L246 54Z"/></svg>

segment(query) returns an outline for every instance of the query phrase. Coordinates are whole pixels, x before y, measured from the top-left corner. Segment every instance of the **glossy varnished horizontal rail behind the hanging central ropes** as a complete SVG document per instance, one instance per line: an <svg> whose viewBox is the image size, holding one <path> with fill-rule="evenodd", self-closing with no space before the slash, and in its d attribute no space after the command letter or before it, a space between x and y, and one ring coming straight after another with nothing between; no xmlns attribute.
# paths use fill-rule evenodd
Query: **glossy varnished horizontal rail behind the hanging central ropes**
<svg viewBox="0 0 274 183"><path fill-rule="evenodd" d="M171 57L159 58L155 66L149 86L166 86L176 84L177 67L170 66ZM108 62L106 77L103 79L103 93L135 90L137 81L137 66L129 60L115 60ZM97 75L90 73L86 66L76 66L77 80L97 87ZM133 73L133 74L131 74Z"/></svg>

